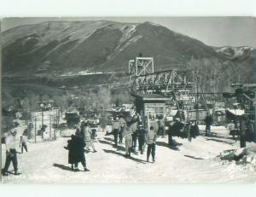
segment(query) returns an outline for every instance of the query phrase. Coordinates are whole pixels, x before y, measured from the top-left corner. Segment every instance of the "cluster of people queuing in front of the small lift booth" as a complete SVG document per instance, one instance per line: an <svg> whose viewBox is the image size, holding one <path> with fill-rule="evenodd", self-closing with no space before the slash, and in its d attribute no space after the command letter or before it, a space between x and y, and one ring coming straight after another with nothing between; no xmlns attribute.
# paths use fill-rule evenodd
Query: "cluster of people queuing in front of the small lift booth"
<svg viewBox="0 0 256 197"><path fill-rule="evenodd" d="M151 126L149 130L145 130L140 115L135 115L130 121L125 121L124 117L115 117L113 119L112 132L114 146L123 143L125 138L125 157L131 157L131 153L137 154L138 151L143 154L145 145L148 144L147 161L150 154L152 155L153 162L155 161L155 143L157 132Z"/></svg>

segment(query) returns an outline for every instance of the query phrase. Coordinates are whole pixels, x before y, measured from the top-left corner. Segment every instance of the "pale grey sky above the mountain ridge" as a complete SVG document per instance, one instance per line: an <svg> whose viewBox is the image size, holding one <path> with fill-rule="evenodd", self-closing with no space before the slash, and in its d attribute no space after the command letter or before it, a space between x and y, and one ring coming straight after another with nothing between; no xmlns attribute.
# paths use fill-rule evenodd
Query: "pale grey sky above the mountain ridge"
<svg viewBox="0 0 256 197"><path fill-rule="evenodd" d="M256 18L253 17L62 17L5 18L2 31L15 26L36 24L48 20L113 20L139 23L150 21L175 32L201 40L207 45L251 46L256 48Z"/></svg>

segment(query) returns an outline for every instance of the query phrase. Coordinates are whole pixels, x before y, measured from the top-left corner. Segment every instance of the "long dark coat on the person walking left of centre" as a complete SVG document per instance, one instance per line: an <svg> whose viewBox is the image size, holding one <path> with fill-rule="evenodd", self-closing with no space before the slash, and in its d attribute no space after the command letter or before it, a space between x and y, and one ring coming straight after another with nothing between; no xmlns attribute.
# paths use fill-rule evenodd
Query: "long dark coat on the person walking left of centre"
<svg viewBox="0 0 256 197"><path fill-rule="evenodd" d="M84 154L85 143L79 136L71 136L71 140L67 141L68 164L81 162Z"/></svg>

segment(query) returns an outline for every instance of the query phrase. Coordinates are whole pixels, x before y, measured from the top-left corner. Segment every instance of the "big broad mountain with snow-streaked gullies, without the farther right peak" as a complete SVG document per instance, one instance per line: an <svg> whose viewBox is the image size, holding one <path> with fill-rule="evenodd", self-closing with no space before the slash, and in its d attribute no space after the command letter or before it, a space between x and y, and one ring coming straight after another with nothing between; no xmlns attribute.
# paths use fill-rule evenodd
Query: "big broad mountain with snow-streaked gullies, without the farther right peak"
<svg viewBox="0 0 256 197"><path fill-rule="evenodd" d="M139 53L156 69L224 54L200 41L150 22L49 21L3 32L3 75L38 72L127 71Z"/></svg>

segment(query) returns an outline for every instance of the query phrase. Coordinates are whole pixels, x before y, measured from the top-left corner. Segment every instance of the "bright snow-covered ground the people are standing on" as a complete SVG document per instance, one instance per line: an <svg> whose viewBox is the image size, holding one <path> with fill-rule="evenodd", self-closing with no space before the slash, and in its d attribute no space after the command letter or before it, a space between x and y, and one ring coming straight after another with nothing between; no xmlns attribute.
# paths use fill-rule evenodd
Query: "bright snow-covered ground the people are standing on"
<svg viewBox="0 0 256 197"><path fill-rule="evenodd" d="M212 131L218 136L199 136L192 142L175 138L181 143L177 149L168 147L167 137L158 138L154 164L146 163L146 154L126 159L124 145L113 148L113 136L100 133L98 152L86 154L89 172L70 170L63 148L69 138L29 143L29 152L18 154L22 174L3 177L3 183L256 183L255 170L216 159L226 149L239 148L239 142L230 139L224 127Z"/></svg>

